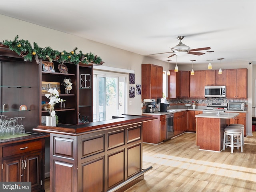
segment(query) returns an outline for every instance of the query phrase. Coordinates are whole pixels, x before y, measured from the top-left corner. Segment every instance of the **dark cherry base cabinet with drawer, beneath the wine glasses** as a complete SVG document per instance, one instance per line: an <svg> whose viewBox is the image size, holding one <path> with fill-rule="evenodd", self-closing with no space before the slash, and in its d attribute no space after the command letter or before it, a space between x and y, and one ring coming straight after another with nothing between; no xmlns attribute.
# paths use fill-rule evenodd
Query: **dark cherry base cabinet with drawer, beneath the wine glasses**
<svg viewBox="0 0 256 192"><path fill-rule="evenodd" d="M2 181L31 182L44 191L44 139L2 145Z"/></svg>

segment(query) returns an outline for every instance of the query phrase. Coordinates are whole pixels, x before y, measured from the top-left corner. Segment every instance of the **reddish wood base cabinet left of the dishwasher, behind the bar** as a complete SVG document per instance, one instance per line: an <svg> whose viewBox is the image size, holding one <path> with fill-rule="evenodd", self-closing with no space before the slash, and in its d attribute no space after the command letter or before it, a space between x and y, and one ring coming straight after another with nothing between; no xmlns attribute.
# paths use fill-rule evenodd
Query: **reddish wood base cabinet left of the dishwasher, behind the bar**
<svg viewBox="0 0 256 192"><path fill-rule="evenodd" d="M143 142L160 143L166 139L166 115L144 115L158 118L143 123Z"/></svg>

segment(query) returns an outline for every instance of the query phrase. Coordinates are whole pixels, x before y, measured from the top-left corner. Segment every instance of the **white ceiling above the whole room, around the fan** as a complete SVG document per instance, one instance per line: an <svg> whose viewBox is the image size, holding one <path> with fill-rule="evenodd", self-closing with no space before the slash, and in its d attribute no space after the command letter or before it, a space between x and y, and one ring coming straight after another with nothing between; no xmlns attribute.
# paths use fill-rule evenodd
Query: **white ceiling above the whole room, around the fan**
<svg viewBox="0 0 256 192"><path fill-rule="evenodd" d="M123 50L176 63L170 47L211 47L178 64L256 64L254 0L1 0L0 13ZM1 26L3 27L3 26ZM18 35L18 34L17 34ZM104 60L104 58L102 58Z"/></svg>

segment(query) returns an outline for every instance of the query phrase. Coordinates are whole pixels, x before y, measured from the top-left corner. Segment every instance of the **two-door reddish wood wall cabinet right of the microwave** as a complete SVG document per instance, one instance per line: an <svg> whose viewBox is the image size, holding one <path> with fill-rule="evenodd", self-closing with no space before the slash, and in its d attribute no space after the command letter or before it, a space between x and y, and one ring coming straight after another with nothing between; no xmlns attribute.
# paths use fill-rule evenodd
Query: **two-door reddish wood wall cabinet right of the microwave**
<svg viewBox="0 0 256 192"><path fill-rule="evenodd" d="M226 70L226 98L247 98L248 69Z"/></svg>

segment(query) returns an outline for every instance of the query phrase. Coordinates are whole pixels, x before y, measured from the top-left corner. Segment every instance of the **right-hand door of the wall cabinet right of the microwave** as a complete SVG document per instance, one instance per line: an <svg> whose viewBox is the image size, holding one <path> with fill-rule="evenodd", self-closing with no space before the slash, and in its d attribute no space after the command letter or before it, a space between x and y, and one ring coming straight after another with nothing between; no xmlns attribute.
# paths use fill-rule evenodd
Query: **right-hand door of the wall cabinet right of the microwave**
<svg viewBox="0 0 256 192"><path fill-rule="evenodd" d="M236 69L236 97L247 98L247 69Z"/></svg>

